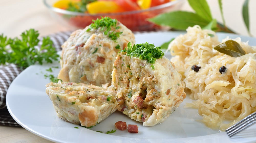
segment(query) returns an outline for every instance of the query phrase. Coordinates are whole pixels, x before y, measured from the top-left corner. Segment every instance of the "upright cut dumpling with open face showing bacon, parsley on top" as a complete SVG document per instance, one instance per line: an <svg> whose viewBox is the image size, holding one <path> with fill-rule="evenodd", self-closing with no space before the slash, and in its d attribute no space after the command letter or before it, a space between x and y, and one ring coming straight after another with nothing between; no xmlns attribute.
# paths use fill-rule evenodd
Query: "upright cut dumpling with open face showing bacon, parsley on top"
<svg viewBox="0 0 256 143"><path fill-rule="evenodd" d="M186 97L180 74L163 55L153 44L129 43L114 62L118 110L143 126L163 122Z"/></svg>

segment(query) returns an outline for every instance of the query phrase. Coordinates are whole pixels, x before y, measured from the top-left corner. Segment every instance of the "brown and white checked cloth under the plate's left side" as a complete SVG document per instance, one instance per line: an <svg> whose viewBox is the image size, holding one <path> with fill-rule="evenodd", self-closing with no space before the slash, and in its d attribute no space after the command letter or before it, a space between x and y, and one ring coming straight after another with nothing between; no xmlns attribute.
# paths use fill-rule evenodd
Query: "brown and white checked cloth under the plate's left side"
<svg viewBox="0 0 256 143"><path fill-rule="evenodd" d="M61 50L61 45L68 39L70 34L71 32L69 31L49 35L57 51ZM9 114L5 97L10 84L21 71L22 70L14 64L0 65L0 125L20 126Z"/></svg>

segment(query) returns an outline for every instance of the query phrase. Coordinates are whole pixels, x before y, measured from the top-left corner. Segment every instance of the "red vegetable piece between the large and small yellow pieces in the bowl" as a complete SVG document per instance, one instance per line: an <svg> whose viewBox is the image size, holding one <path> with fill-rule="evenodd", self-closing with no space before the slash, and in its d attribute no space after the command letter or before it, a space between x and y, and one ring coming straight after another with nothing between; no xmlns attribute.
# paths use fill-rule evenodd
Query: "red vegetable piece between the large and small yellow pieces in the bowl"
<svg viewBox="0 0 256 143"><path fill-rule="evenodd" d="M120 7L126 11L139 10L140 7L133 0L114 0Z"/></svg>

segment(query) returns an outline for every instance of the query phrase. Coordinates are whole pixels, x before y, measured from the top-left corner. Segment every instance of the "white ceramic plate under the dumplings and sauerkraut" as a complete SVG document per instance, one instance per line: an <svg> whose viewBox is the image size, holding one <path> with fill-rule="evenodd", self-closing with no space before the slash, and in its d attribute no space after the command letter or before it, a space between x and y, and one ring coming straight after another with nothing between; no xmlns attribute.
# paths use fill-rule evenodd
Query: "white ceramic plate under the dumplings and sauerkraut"
<svg viewBox="0 0 256 143"><path fill-rule="evenodd" d="M135 35L136 43L146 41L160 46L163 42L184 32L152 32ZM226 36L239 37L234 34L218 33L219 39ZM249 40L250 45L256 45L254 38L240 36L242 41ZM170 54L165 55L170 58ZM45 93L45 84L49 79L44 74L59 72L59 68L52 68L53 73L46 71L49 67L59 66L58 62L45 65L33 65L20 73L10 85L6 103L12 117L28 131L54 142L255 142L256 125L247 128L240 134L229 138L225 132L207 128L199 120L196 109L184 108L191 99L187 98L170 117L161 124L146 127L124 114L116 111L107 119L91 129L65 122L56 116L52 103ZM114 123L125 121L127 124L137 124L138 134L127 131L116 131L112 134L102 134L95 131L106 132L115 129Z"/></svg>

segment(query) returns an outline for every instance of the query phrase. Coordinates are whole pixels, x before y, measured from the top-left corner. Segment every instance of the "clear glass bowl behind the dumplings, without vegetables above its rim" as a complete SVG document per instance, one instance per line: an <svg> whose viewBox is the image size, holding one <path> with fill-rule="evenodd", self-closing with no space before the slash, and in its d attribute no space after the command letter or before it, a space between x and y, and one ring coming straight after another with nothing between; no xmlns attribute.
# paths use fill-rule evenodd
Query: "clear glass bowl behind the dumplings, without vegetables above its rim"
<svg viewBox="0 0 256 143"><path fill-rule="evenodd" d="M72 12L52 5L56 0L43 0L44 4L51 11L52 17L60 21L60 23L71 26L72 29L85 28L92 23L92 19L102 17L110 17L117 19L132 31L157 31L162 29L162 26L155 25L147 18L155 17L164 12L170 12L180 9L184 0L175 0L162 5L154 6L145 10L125 11L118 13L100 13L91 15L89 13Z"/></svg>

